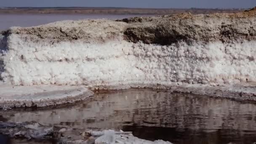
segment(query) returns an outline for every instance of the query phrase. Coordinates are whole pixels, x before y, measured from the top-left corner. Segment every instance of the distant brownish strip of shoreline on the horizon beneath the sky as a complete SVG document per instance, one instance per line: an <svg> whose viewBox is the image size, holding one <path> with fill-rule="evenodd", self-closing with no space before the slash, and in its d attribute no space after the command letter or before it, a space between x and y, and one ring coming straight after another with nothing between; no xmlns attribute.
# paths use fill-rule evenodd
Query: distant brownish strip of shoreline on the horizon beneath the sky
<svg viewBox="0 0 256 144"><path fill-rule="evenodd" d="M92 7L7 7L0 8L0 14L174 14L174 13L236 13L246 9L207 9L207 8L92 8Z"/></svg>

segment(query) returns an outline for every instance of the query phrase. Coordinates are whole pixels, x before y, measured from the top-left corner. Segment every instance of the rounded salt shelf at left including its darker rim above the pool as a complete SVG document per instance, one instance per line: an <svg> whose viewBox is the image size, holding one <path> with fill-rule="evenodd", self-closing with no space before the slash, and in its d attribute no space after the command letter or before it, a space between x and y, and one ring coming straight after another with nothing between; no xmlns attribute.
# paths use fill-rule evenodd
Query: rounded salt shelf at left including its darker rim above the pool
<svg viewBox="0 0 256 144"><path fill-rule="evenodd" d="M92 91L77 86L0 85L0 108L56 106L81 101L92 95Z"/></svg>

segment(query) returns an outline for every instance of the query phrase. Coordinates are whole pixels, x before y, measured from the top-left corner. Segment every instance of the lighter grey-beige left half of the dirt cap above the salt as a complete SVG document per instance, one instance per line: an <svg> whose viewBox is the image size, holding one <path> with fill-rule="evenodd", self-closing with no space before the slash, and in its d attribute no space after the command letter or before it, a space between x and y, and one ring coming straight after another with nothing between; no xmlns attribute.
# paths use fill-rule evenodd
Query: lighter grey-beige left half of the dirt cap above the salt
<svg viewBox="0 0 256 144"><path fill-rule="evenodd" d="M125 26L125 23L106 19L57 21L37 27L12 27L2 32L2 35L18 34L25 41L50 41L52 44L72 40L99 43L115 39Z"/></svg>

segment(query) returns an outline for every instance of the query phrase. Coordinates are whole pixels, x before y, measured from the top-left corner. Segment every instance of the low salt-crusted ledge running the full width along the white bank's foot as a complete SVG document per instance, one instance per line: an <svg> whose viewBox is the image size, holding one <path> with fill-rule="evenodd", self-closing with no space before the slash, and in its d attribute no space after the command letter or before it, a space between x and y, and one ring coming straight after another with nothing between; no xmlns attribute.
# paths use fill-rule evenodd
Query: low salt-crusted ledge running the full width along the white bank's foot
<svg viewBox="0 0 256 144"><path fill-rule="evenodd" d="M216 86L176 83L172 85L139 85L135 88L152 88L156 91L167 91L169 93L192 93L199 96L231 99L243 103L256 103L256 88L254 85ZM91 91L81 86L1 86L0 109L65 107L66 105L74 105L80 101L87 100L92 96L96 96L97 93L115 93L115 91L122 89L126 88L108 87ZM132 88L130 89L132 90Z"/></svg>

